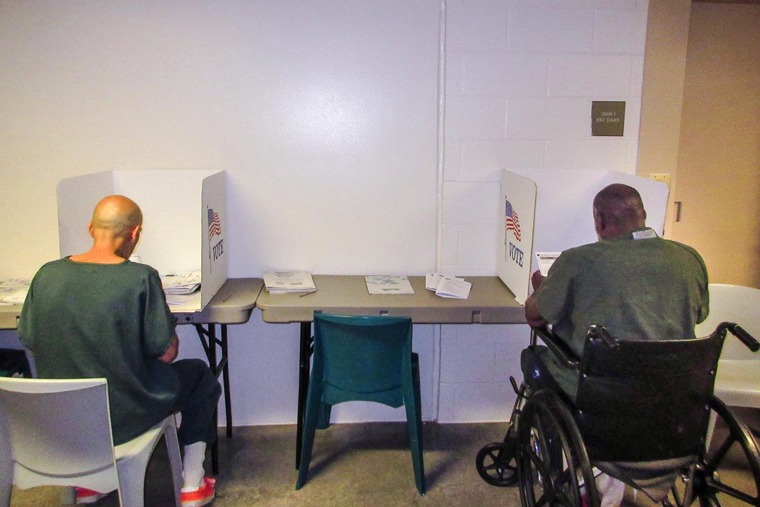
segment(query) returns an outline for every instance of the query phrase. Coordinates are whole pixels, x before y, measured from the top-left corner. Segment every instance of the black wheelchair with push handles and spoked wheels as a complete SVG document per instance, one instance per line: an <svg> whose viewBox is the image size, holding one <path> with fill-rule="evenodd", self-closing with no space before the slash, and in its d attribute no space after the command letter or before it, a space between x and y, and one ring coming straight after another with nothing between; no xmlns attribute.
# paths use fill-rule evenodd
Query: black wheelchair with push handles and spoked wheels
<svg viewBox="0 0 760 507"><path fill-rule="evenodd" d="M578 357L549 328L534 328L526 352L535 353L540 338L577 372L575 402L550 376L537 382L526 375L519 387L510 378L515 407L503 441L478 452L480 477L492 486L518 483L523 507L599 507L600 471L663 507L695 500L721 507L722 499L760 507L760 448L713 395L727 331L760 348L732 322L708 337L672 341L619 340L591 326ZM724 464L735 466L737 455L754 487L724 477Z"/></svg>

